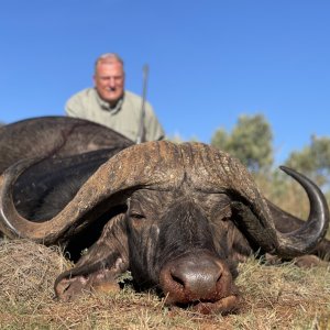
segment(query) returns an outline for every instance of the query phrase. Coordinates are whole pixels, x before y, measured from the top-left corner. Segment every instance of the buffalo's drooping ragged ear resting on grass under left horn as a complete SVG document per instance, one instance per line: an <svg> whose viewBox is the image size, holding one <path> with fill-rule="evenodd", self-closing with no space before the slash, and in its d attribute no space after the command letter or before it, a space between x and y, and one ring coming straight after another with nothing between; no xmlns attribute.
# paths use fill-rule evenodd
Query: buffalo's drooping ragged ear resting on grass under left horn
<svg viewBox="0 0 330 330"><path fill-rule="evenodd" d="M74 300L84 292L119 290L117 277L129 268L128 251L124 215L119 215L109 220L100 239L77 265L56 278L56 297Z"/></svg>

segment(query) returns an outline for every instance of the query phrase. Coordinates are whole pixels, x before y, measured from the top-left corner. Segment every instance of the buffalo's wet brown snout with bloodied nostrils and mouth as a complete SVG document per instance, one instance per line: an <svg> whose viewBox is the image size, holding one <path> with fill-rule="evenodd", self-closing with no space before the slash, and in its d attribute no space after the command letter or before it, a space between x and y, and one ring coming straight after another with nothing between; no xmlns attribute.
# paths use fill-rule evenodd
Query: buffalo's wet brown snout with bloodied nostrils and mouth
<svg viewBox="0 0 330 330"><path fill-rule="evenodd" d="M228 312L237 308L238 294L227 264L196 252L167 262L160 285L167 305L191 305L199 312Z"/></svg>

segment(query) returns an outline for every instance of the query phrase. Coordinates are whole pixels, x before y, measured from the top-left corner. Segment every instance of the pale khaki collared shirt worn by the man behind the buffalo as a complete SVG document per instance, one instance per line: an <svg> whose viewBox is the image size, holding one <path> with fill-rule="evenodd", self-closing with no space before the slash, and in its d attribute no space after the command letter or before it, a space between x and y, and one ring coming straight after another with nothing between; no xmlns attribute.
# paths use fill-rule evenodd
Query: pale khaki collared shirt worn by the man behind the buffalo
<svg viewBox="0 0 330 330"><path fill-rule="evenodd" d="M145 102L144 109L145 141L164 139L164 130L152 106ZM67 101L65 111L69 117L100 123L135 142L141 122L142 98L125 90L122 99L118 101L114 108L111 108L108 102L99 97L95 88L87 88L77 92Z"/></svg>

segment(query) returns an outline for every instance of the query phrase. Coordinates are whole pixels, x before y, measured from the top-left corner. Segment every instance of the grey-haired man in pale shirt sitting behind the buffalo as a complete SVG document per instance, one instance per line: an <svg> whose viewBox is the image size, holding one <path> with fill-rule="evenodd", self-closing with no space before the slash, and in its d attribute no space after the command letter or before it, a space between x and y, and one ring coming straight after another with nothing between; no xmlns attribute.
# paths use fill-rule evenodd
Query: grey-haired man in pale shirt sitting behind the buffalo
<svg viewBox="0 0 330 330"><path fill-rule="evenodd" d="M124 90L123 61L119 55L101 55L95 64L94 88L74 95L66 103L67 116L87 119L109 127L132 141L156 141L165 138L152 106ZM143 118L144 136L140 136Z"/></svg>

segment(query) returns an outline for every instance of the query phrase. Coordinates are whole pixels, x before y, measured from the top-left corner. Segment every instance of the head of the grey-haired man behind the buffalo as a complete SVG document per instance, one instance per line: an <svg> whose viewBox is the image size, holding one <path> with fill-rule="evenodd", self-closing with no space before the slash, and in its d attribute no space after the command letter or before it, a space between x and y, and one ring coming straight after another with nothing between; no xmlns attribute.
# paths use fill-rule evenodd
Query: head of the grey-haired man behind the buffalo
<svg viewBox="0 0 330 330"><path fill-rule="evenodd" d="M116 106L124 91L123 61L113 53L101 55L95 64L95 87L101 99Z"/></svg>

